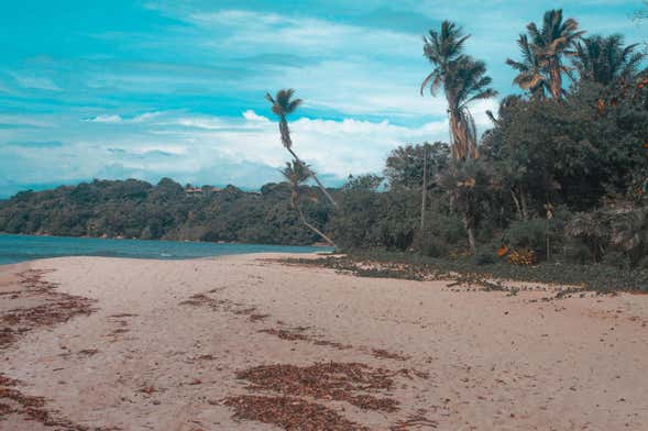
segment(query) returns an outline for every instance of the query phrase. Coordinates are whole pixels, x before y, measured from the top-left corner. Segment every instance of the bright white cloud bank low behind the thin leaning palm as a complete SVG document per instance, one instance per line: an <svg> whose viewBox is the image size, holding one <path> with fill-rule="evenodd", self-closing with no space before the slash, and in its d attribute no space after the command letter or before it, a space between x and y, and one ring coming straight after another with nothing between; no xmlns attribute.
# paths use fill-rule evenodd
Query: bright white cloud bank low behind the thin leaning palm
<svg viewBox="0 0 648 431"><path fill-rule="evenodd" d="M446 120L404 126L386 120L301 118L289 125L294 150L299 156L321 174L338 178L345 178L349 174L380 173L388 152L396 146L410 142L447 141L448 136ZM162 141L167 143L185 145L186 162L189 163L190 158L199 169L211 166L215 159L270 167L278 167L289 159L282 147L276 122L253 110L243 112L239 119L201 115L182 117L174 121L165 118L150 133L151 136L163 136ZM259 185L263 181L259 178Z"/></svg>

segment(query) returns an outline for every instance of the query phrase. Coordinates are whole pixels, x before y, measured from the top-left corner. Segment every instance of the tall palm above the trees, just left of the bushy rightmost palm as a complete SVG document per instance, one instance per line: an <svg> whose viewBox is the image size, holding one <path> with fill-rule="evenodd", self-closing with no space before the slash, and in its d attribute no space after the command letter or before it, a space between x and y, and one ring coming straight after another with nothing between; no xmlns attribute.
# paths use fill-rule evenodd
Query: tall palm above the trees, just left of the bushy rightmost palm
<svg viewBox="0 0 648 431"><path fill-rule="evenodd" d="M580 31L579 23L573 19L562 19L562 9L545 12L542 27L529 23L527 30L535 55L549 77L551 97L562 98L562 74L569 74L570 68L562 64L562 57L573 55L571 51L579 38L585 33Z"/></svg>

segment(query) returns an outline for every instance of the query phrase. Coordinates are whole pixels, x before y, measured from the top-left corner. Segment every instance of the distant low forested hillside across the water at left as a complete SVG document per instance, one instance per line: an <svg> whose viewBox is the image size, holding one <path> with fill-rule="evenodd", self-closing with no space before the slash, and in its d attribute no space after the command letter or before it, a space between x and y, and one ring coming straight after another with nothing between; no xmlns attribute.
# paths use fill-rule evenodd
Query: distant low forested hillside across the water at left
<svg viewBox="0 0 648 431"><path fill-rule="evenodd" d="M0 206L0 231L275 244L320 241L300 225L298 214L289 208L290 192L287 184L245 192L232 186L185 189L168 178L156 186L135 179L95 180L15 195ZM310 200L301 208L314 222L328 221L322 205Z"/></svg>

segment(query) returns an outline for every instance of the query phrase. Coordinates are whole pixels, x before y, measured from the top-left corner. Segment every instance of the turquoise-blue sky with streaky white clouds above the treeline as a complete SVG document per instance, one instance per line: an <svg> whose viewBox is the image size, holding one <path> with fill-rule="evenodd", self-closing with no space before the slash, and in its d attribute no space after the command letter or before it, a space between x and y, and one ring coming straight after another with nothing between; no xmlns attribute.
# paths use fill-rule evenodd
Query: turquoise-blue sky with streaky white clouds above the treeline
<svg viewBox="0 0 648 431"><path fill-rule="evenodd" d="M294 87L295 150L326 183L389 150L447 140L420 97L421 35L452 19L494 86L526 23L563 8L589 33L645 42L640 1L22 1L0 16L0 197L92 178L256 188L288 159L263 99ZM523 5L524 4L524 5ZM473 111L480 128L497 100Z"/></svg>

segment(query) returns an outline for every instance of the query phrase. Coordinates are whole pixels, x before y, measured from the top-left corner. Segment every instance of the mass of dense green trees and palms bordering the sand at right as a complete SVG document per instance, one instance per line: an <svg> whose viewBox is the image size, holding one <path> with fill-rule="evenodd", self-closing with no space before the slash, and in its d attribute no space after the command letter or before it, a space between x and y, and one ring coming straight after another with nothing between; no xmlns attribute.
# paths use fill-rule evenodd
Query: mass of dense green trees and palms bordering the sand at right
<svg viewBox="0 0 648 431"><path fill-rule="evenodd" d="M375 189L373 177L354 178L344 188L343 208L331 219L339 246L355 254L370 247L414 252L409 255L453 262L452 267L461 266L458 262L486 266L502 276L523 270L509 264L519 252L539 262L543 274L556 274L548 280L569 281L561 272L575 280L585 274L571 269L576 264L596 265L591 267L608 274L607 281L644 274L645 54L637 45L624 46L619 35L584 37L561 11L547 12L541 25L529 24L527 31L518 38L523 59L507 62L519 73L514 84L525 93L503 98L498 112L490 113L493 128L482 136L479 157L455 156L461 130L452 121L450 144L395 150L386 162L384 191ZM465 42L449 22L425 37L424 54L436 68L424 87L444 86L446 96L462 87L444 74L458 67ZM448 102L451 110L452 97Z"/></svg>

